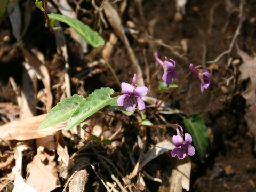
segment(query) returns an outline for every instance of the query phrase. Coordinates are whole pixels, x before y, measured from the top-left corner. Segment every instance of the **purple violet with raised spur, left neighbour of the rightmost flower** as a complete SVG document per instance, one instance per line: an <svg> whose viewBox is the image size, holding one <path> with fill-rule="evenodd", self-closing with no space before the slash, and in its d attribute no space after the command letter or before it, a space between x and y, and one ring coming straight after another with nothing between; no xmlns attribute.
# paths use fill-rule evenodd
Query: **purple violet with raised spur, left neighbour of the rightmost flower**
<svg viewBox="0 0 256 192"><path fill-rule="evenodd" d="M161 59L159 59L157 53L155 53L155 58L163 68L165 67L167 69L162 77L163 81L166 83L166 85L172 84L172 79L178 78L178 75L174 69L174 67L176 66L176 62L172 59L169 59L171 62L166 60L162 61Z"/></svg>

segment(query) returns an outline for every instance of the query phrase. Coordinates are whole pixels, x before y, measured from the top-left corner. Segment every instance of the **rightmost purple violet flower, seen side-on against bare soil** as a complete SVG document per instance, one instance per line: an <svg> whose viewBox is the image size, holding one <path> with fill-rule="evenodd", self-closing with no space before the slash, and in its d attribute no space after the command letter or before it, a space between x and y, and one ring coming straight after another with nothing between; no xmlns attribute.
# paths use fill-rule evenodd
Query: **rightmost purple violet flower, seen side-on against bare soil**
<svg viewBox="0 0 256 192"><path fill-rule="evenodd" d="M200 87L201 87L201 92L204 92L204 89L207 89L210 86L210 73L207 70L203 69L195 69L193 64L189 65L190 70L192 73L194 73L197 78L200 81Z"/></svg>

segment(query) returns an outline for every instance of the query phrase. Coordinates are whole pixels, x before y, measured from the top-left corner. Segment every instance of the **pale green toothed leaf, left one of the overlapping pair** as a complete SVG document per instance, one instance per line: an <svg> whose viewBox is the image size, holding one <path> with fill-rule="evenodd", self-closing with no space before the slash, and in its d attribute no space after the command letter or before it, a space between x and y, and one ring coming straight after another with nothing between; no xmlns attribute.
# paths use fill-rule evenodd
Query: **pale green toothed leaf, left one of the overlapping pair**
<svg viewBox="0 0 256 192"><path fill-rule="evenodd" d="M39 126L39 129L66 121L83 101L85 101L83 96L75 94L58 102L57 105L52 108L49 115L45 117L44 121Z"/></svg>

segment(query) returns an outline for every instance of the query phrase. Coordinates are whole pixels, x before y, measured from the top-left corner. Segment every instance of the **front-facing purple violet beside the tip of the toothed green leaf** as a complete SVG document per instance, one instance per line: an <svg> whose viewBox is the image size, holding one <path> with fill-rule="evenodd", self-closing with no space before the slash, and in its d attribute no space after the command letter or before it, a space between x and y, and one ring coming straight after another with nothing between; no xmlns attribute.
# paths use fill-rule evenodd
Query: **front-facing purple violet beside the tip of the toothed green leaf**
<svg viewBox="0 0 256 192"><path fill-rule="evenodd" d="M117 99L118 106L124 106L126 111L133 111L138 105L139 110L145 109L145 103L141 99L148 93L148 88L146 86L136 87L136 74L134 74L132 85L129 83L122 82L121 87L123 95Z"/></svg>

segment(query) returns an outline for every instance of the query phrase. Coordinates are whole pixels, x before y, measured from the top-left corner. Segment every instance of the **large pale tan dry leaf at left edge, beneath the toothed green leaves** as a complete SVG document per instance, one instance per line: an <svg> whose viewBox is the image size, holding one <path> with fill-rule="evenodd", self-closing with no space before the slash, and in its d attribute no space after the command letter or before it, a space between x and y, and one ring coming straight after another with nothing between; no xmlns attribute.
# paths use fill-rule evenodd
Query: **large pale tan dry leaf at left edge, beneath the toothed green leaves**
<svg viewBox="0 0 256 192"><path fill-rule="evenodd" d="M30 140L42 138L47 135L54 135L56 131L65 129L66 123L47 127L45 129L38 129L41 122L45 119L47 114L29 117L25 119L17 119L10 123L0 126L1 138L4 140Z"/></svg>

